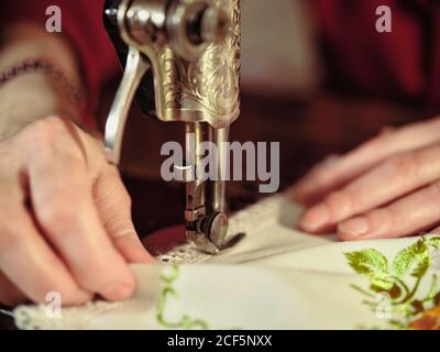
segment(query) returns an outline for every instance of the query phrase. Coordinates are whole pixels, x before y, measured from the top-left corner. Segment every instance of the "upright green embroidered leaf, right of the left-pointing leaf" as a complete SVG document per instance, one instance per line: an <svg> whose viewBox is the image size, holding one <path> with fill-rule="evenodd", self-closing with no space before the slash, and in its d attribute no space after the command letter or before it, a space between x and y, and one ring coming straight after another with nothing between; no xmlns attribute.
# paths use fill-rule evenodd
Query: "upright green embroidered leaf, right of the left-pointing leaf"
<svg viewBox="0 0 440 352"><path fill-rule="evenodd" d="M428 245L426 240L421 239L397 253L393 261L393 270L399 277L409 271L413 271L413 276L421 277L429 268L430 262Z"/></svg>

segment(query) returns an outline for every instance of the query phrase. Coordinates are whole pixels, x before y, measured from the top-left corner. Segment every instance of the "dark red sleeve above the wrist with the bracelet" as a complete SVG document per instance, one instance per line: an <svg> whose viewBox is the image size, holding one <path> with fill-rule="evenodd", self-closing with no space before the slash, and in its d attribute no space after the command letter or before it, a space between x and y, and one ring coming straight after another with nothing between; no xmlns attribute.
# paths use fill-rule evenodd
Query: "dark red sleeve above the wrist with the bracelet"
<svg viewBox="0 0 440 352"><path fill-rule="evenodd" d="M8 0L2 4L1 26L32 21L45 29L50 6L62 10L62 34L77 53L88 92L88 112L92 113L102 82L118 69L117 54L103 28L103 0Z"/></svg>

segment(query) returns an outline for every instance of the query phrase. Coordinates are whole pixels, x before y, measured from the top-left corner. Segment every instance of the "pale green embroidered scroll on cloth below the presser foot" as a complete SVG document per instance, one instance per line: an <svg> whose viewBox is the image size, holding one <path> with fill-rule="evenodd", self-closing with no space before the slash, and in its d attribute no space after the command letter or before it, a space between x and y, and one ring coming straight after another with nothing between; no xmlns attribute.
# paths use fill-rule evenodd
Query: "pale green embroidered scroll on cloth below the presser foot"
<svg viewBox="0 0 440 352"><path fill-rule="evenodd" d="M178 279L180 274L180 268L178 265L169 266L169 273L162 274L161 280L163 283L162 290L160 293L160 297L157 300L156 307L156 319L157 321L167 329L209 329L208 323L201 319L191 319L189 316L184 315L179 321L170 322L165 318L166 302L168 297L173 297L174 299L178 299L178 295L173 287L173 284Z"/></svg>

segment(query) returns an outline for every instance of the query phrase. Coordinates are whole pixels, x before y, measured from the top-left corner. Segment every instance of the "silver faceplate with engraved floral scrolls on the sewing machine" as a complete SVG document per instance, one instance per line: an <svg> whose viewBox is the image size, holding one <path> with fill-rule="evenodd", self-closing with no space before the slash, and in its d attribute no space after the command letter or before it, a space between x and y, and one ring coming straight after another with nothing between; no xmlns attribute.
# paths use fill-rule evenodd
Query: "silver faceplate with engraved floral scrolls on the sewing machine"
<svg viewBox="0 0 440 352"><path fill-rule="evenodd" d="M232 30L223 42L210 44L195 62L187 62L169 50L158 55L165 120L179 110L184 121L209 122L221 128L239 116L240 1L216 0L216 6L227 9L231 16Z"/></svg>

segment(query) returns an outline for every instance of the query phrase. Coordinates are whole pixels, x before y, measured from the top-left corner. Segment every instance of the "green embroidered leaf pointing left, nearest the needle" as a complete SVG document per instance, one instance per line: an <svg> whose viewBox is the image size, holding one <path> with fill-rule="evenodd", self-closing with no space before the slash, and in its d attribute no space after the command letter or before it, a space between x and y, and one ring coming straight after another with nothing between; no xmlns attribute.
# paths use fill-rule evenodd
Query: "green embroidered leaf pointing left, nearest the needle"
<svg viewBox="0 0 440 352"><path fill-rule="evenodd" d="M350 266L362 275L371 277L386 277L388 263L386 257L378 251L370 249L345 253Z"/></svg>

